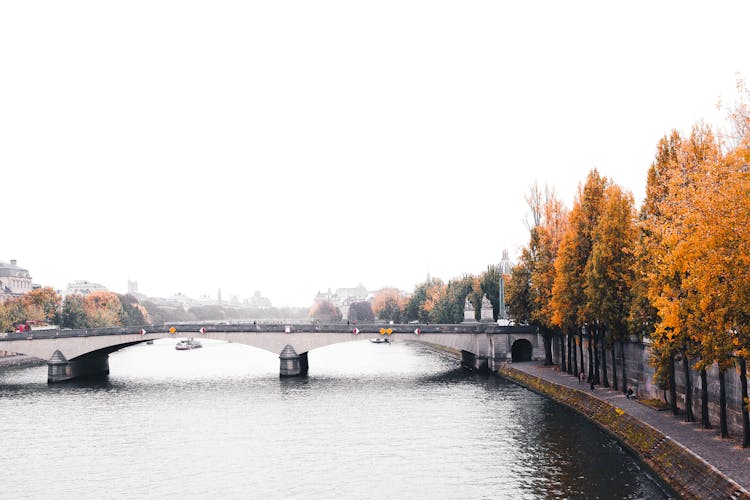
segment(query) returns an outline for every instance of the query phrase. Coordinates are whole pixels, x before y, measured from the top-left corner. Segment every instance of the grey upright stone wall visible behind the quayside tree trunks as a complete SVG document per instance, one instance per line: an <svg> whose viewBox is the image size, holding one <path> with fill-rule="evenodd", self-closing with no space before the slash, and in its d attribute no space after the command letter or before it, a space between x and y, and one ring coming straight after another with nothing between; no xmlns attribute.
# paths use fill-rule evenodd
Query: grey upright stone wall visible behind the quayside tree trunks
<svg viewBox="0 0 750 500"><path fill-rule="evenodd" d="M557 346L555 346L557 347ZM583 359L588 374L588 341L583 343ZM617 356L617 380L622 388L622 367L620 366L620 346L616 347ZM558 352L554 352L555 363L559 364L560 358ZM640 341L630 341L625 343L625 374L628 382L627 386L631 387L636 395L642 399L660 399L666 402L664 389L654 382L654 367L650 365L651 349L648 344ZM695 364L695 359L690 360L689 364ZM580 363L580 354L579 354ZM685 408L685 373L683 361L675 363L675 379L677 389L677 406L684 410ZM580 369L580 368L579 368ZM607 353L607 376L612 384L612 354ZM714 427L719 425L719 369L714 365L707 370L708 376L708 409L711 424ZM730 434L735 436L742 434L742 410L741 410L741 392L740 392L740 375L739 368L727 370L726 374L726 393L727 393L727 425ZM701 380L700 375L695 370L690 370L690 380L692 383L693 395L693 414L700 419L701 412Z"/></svg>

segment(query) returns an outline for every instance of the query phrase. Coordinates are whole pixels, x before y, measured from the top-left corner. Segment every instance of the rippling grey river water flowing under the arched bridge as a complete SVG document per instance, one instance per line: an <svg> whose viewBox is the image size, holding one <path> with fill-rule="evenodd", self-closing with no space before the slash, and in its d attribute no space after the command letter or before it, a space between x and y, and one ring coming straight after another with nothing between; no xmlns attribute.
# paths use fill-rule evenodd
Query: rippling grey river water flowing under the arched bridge
<svg viewBox="0 0 750 500"><path fill-rule="evenodd" d="M0 371L2 498L668 498L572 411L425 348L277 356L204 341L110 356L106 380Z"/></svg>

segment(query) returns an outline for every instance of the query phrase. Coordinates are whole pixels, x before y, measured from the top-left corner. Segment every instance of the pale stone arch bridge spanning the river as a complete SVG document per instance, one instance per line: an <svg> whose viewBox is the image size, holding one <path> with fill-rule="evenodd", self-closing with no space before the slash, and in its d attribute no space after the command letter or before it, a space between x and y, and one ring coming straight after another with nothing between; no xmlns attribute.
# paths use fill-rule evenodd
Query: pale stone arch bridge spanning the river
<svg viewBox="0 0 750 500"><path fill-rule="evenodd" d="M279 355L281 376L304 376L307 353L341 342L384 338L419 342L461 355L461 365L495 370L501 361L544 359L536 328L494 323L458 325L364 324L165 324L143 327L34 330L0 336L0 350L47 361L49 383L109 374L109 354L163 338L206 338L245 344Z"/></svg>

